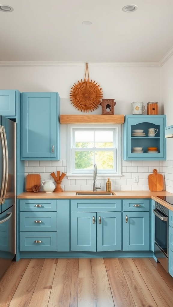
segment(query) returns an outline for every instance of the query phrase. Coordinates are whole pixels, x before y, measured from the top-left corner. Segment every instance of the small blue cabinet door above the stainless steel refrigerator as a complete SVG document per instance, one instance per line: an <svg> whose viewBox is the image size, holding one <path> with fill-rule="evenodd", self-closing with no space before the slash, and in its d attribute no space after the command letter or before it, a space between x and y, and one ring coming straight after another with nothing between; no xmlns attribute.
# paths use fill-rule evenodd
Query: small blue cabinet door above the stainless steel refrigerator
<svg viewBox="0 0 173 307"><path fill-rule="evenodd" d="M15 90L0 91L0 115L16 115Z"/></svg>

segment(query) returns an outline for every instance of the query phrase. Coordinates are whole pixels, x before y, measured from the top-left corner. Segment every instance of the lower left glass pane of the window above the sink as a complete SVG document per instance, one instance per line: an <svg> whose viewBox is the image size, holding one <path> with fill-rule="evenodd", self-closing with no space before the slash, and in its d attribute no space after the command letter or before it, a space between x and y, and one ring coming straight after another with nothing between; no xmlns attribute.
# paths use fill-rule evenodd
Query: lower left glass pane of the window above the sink
<svg viewBox="0 0 173 307"><path fill-rule="evenodd" d="M94 164L93 151L75 152L75 169L93 169L93 164Z"/></svg>

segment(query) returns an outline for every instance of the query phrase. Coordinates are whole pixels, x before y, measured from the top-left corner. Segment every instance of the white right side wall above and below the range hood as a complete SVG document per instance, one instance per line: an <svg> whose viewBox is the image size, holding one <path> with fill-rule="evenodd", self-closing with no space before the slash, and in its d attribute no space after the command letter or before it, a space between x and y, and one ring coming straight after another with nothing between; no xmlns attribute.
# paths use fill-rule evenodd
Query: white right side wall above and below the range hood
<svg viewBox="0 0 173 307"><path fill-rule="evenodd" d="M167 126L173 125L173 56L161 67L161 101L167 115ZM165 173L165 185L173 193L173 138L167 138L167 161L161 171Z"/></svg>

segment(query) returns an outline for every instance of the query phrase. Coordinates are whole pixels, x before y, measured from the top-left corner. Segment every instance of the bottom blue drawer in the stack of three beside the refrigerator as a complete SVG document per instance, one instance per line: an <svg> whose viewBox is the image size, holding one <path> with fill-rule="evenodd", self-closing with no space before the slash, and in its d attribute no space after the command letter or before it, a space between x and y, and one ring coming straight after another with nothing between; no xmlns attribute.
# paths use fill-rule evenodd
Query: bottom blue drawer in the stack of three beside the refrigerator
<svg viewBox="0 0 173 307"><path fill-rule="evenodd" d="M57 233L20 232L20 251L57 251Z"/></svg>

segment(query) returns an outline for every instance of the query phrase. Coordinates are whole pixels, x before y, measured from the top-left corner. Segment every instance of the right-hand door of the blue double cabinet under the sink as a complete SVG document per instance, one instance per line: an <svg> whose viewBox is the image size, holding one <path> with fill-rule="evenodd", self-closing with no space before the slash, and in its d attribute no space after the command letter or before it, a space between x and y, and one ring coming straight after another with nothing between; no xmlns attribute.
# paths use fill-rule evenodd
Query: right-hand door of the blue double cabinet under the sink
<svg viewBox="0 0 173 307"><path fill-rule="evenodd" d="M97 213L97 251L120 251L121 235L121 212Z"/></svg>

